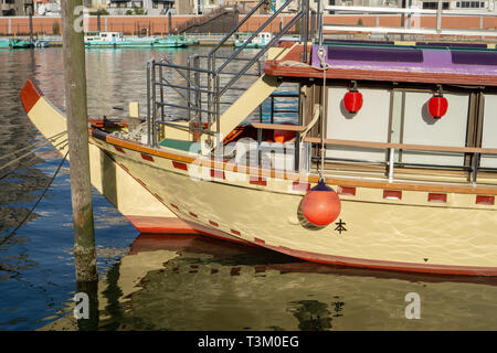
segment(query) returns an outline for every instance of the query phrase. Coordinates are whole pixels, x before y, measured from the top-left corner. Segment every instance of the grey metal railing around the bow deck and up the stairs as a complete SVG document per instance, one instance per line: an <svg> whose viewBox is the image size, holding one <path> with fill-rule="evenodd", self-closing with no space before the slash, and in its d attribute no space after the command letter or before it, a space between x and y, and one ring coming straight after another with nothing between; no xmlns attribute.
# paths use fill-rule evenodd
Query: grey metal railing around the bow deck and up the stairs
<svg viewBox="0 0 497 353"><path fill-rule="evenodd" d="M191 55L188 57L186 65L178 65L166 58L147 63L148 145L158 145L158 126L166 125L182 130L197 131L200 135L205 133L208 145L213 147L213 138L220 138L222 124L220 120L223 108L234 100L233 97L226 97L228 93L247 88L237 85L242 77L260 77L263 74L261 62L263 56L269 47L275 46L282 36L300 20L303 22L300 41L307 42L309 24L316 25L316 21L309 21L310 10L308 1L302 0L300 11L253 57L242 57L241 53L273 20L282 14L290 4L290 0L283 3L279 9L228 57L220 56L219 50L232 40L240 28L266 3L266 0L261 0L230 33L225 34L213 46L208 55ZM313 30L310 32L315 33ZM307 53L306 45L305 53ZM234 63L241 64L241 67L239 65L236 69L231 69ZM168 97L168 101L165 100L167 92L173 92L178 98L177 103L171 101L170 96ZM258 109L262 116L262 105ZM181 120L188 121L188 126L171 121L171 119L175 119L171 116L171 111L179 110L183 111ZM195 139L198 138L199 136L195 137Z"/></svg>

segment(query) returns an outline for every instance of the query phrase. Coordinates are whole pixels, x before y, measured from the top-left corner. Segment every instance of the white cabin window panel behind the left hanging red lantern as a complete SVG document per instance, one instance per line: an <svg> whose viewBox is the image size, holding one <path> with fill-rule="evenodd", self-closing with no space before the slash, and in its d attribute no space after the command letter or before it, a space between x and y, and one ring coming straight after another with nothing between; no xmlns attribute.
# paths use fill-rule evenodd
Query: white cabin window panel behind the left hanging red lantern
<svg viewBox="0 0 497 353"><path fill-rule="evenodd" d="M362 108L350 114L343 107L347 87L328 88L327 138L355 141L388 142L390 92L388 89L359 88L363 97ZM383 162L384 149L364 147L328 146L327 158Z"/></svg>

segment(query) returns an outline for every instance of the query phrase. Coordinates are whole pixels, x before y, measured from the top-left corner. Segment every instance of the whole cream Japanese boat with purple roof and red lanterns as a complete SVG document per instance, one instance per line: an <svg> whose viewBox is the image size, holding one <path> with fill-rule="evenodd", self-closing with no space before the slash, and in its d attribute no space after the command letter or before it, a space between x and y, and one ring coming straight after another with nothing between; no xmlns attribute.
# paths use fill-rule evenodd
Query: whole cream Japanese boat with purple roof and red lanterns
<svg viewBox="0 0 497 353"><path fill-rule="evenodd" d="M192 228L324 264L496 276L495 44L327 43L320 20L316 41L304 31L276 46L309 12L235 74L225 68L250 41L230 57L218 50L245 20L207 57L149 62L146 119L133 105L129 120L91 120L93 184L145 232ZM263 73L226 101L264 54ZM287 83L294 125L246 124ZM62 113L32 82L21 98L57 146ZM171 216L180 221L168 227Z"/></svg>

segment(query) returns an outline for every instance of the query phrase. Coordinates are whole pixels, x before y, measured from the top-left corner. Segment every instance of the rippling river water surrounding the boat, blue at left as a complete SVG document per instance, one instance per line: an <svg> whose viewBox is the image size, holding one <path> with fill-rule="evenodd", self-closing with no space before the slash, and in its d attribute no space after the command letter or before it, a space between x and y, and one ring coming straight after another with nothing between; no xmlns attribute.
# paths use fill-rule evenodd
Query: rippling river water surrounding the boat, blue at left
<svg viewBox="0 0 497 353"><path fill-rule="evenodd" d="M119 116L113 107L142 100L148 60L184 63L208 50L88 51L88 114ZM43 142L19 100L25 79L64 106L62 50L0 51L0 330L77 330L68 163L30 215L61 157L43 147L3 167ZM93 196L99 330L497 329L494 278L321 266L202 236L140 235ZM420 319L408 319L412 298Z"/></svg>

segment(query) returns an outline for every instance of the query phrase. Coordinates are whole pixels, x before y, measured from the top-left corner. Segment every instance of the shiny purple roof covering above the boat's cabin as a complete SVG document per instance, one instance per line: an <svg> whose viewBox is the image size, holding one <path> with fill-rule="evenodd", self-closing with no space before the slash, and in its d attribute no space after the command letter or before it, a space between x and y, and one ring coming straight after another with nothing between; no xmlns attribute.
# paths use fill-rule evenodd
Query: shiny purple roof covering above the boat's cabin
<svg viewBox="0 0 497 353"><path fill-rule="evenodd" d="M313 47L314 67L321 67L318 49L318 45ZM327 47L326 62L342 69L497 77L497 51L331 45Z"/></svg>

